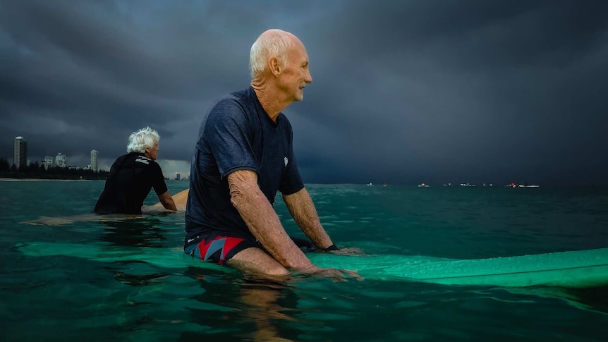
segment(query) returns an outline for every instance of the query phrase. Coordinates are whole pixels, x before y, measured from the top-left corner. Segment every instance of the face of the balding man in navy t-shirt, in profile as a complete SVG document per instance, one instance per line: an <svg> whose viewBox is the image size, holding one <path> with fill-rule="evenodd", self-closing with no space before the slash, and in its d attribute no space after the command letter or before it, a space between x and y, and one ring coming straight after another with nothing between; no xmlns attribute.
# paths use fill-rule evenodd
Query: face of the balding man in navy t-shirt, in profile
<svg viewBox="0 0 608 342"><path fill-rule="evenodd" d="M304 87L312 83L312 76L308 70L308 54L300 42L287 53L287 66L281 73L281 85L292 101L304 99Z"/></svg>

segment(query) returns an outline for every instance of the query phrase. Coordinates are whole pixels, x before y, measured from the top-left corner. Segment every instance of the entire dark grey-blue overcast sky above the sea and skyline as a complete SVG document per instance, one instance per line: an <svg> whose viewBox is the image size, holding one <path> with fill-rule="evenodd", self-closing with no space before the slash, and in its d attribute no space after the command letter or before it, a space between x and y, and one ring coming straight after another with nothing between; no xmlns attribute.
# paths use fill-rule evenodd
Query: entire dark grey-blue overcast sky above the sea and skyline
<svg viewBox="0 0 608 342"><path fill-rule="evenodd" d="M269 28L305 44L284 114L305 183L608 183L608 1L0 1L0 157L100 165L161 135L186 175L202 114Z"/></svg>

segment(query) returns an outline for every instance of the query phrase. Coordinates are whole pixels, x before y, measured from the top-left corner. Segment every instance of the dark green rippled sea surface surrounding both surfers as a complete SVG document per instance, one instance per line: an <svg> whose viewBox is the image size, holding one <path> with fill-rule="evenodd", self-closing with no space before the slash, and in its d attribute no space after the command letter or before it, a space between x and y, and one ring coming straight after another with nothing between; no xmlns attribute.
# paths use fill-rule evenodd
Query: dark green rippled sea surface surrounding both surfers
<svg viewBox="0 0 608 342"><path fill-rule="evenodd" d="M608 287L261 281L184 256L183 213L87 221L103 186L0 181L0 341L608 340ZM608 188L307 188L334 242L371 255L608 248Z"/></svg>

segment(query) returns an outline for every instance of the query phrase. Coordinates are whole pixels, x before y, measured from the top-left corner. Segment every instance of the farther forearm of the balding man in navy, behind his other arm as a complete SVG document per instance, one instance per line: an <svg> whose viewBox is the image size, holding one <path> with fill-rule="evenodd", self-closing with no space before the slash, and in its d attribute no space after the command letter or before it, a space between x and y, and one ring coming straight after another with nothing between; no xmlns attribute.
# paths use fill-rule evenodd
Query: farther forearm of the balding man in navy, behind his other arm
<svg viewBox="0 0 608 342"><path fill-rule="evenodd" d="M291 195L284 195L283 200L296 224L312 240L312 243L323 249L334 244L321 225L315 204L306 188Z"/></svg>

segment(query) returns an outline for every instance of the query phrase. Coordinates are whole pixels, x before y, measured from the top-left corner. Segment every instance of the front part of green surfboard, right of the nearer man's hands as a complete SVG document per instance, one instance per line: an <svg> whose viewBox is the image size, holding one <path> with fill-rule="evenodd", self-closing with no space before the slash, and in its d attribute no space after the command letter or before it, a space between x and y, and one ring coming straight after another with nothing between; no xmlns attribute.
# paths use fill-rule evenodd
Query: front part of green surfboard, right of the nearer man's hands
<svg viewBox="0 0 608 342"><path fill-rule="evenodd" d="M311 255L310 259L320 267L358 269L361 276L372 276L374 279L511 287L545 285L588 288L608 285L608 248L449 261L413 261L399 255L336 255L332 259Z"/></svg>

